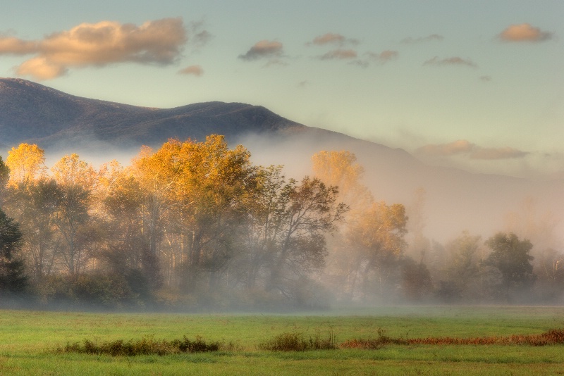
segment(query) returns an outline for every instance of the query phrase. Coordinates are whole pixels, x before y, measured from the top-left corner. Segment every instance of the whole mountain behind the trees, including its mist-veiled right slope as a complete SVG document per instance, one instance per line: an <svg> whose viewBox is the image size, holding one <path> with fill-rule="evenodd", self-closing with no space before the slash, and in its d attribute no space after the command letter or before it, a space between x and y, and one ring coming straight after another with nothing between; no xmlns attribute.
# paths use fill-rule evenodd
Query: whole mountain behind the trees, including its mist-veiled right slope
<svg viewBox="0 0 564 376"><path fill-rule="evenodd" d="M127 164L141 145L159 147L168 138L201 141L224 134L241 143L257 164L283 164L287 175L311 173L320 150L349 150L364 166L376 199L410 206L417 188L427 192L425 233L439 240L462 230L489 237L504 230L504 218L532 197L539 214L564 213L563 182L532 182L425 165L402 149L307 127L261 106L209 102L147 108L73 96L26 80L0 79L0 153L35 143L48 156L79 153L92 163L117 158ZM52 164L52 163L51 163ZM560 233L564 233L564 229Z"/></svg>

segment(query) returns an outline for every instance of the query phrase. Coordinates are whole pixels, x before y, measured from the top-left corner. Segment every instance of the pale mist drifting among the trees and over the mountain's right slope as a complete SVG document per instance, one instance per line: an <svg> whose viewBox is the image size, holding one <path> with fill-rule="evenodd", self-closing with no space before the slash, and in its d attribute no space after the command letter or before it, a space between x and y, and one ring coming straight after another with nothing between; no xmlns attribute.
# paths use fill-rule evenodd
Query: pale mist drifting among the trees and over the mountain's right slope
<svg viewBox="0 0 564 376"><path fill-rule="evenodd" d="M362 184L374 200L388 206L397 203L405 207L405 246L398 254L367 258L362 254L366 250L354 249L349 243L345 220L323 234L324 251L320 251L319 257L324 255L324 259L319 267L289 269L284 287L274 288L267 287L268 282L261 282L260 275L266 278L268 273L257 267L259 282L252 289L245 289L242 281L246 272L238 268L247 261L235 254L237 248L221 256L221 263L215 269L203 268L188 286L182 282L183 274L174 264L180 263L179 259L173 261L169 254L176 252L173 249L180 246L181 237L168 234L161 237L157 258L152 261L147 261L147 254L133 244L90 244L85 246L88 256L77 275L69 275L62 263L54 263L46 277L48 282L43 286L34 285L37 277L30 277L32 286L26 293L29 301L23 303L24 300L14 298L13 305L133 311L302 311L414 303L564 303L560 293L564 273L559 265L564 258L564 227L559 215L564 212L563 182L431 166L402 149L325 130L313 129L279 137L247 134L227 142L231 150L237 144L245 146L250 151L252 165L282 165L283 176L298 182L305 176L314 177L312 156L315 153L354 153L357 163L364 169ZM80 159L96 170L112 160L127 167L140 151L134 146L124 149L95 139L82 139L75 146L76 149L68 144L49 147L45 154L47 167L51 168L62 156L71 153L78 153ZM154 151L160 148L159 145L152 147ZM24 220L9 204L4 207L8 215ZM22 227L24 236L31 225ZM241 231L238 223L226 226L233 236ZM88 228L85 227L86 232L93 231ZM100 234L101 230L96 231ZM492 249L486 242L498 233L515 234L520 242L531 242L528 255L532 257L533 269L529 274L534 275L530 279L534 283L504 281L503 273L488 263ZM464 245L461 239L473 243ZM27 239L21 250L22 254L27 252L28 262L32 260L31 242ZM226 251L225 244L214 244L211 252ZM142 248L141 243L139 246ZM125 257L109 266L115 256L102 255L104 247L106 251L130 249L137 256L133 257L135 260ZM58 258L57 252L61 251L53 252L51 256ZM181 254L175 257L183 257ZM304 262L301 256L296 257L288 258L288 265ZM466 280L457 269L461 260L473 270ZM357 263L350 266L352 271L349 270L348 277L343 277L343 270L336 268L343 262ZM116 277L115 268L121 268L123 263L129 265L127 271ZM147 273L153 274L147 277ZM350 275L355 275L355 282ZM106 290L104 296L99 295L102 287ZM123 294L114 294L115 291Z"/></svg>

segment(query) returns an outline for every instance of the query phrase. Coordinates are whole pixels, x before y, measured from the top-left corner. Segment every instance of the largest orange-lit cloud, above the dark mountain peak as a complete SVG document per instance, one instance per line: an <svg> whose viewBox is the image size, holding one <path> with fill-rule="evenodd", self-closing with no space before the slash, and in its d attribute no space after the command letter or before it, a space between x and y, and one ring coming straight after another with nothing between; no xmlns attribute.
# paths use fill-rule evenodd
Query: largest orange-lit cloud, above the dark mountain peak
<svg viewBox="0 0 564 376"><path fill-rule="evenodd" d="M147 21L140 26L101 21L82 23L39 41L0 37L0 55L35 54L16 72L47 80L69 68L126 62L169 65L179 58L187 40L181 18Z"/></svg>

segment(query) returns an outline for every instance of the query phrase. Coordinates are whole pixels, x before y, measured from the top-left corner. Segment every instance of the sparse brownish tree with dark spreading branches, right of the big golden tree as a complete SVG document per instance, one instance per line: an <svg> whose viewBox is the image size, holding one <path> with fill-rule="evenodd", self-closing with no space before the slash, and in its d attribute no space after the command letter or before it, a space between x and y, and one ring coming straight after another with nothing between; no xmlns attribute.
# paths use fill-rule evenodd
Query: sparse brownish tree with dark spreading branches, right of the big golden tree
<svg viewBox="0 0 564 376"><path fill-rule="evenodd" d="M289 281L324 267L325 234L336 230L348 207L338 203L337 187L327 187L317 178L304 177L300 184L295 180L284 184L282 179L274 184L273 193L261 225L268 252L265 287L288 295Z"/></svg>

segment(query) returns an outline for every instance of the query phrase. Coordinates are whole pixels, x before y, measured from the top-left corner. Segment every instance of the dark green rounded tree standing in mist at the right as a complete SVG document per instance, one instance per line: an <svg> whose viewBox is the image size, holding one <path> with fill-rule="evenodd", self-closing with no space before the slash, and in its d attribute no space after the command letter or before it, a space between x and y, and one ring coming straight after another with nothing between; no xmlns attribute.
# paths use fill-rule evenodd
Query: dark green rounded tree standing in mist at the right
<svg viewBox="0 0 564 376"><path fill-rule="evenodd" d="M510 232L498 232L486 241L491 253L485 264L501 273L501 288L505 299L511 299L513 293L530 291L536 276L533 274L533 257L529 255L532 244L529 240L519 240Z"/></svg>

